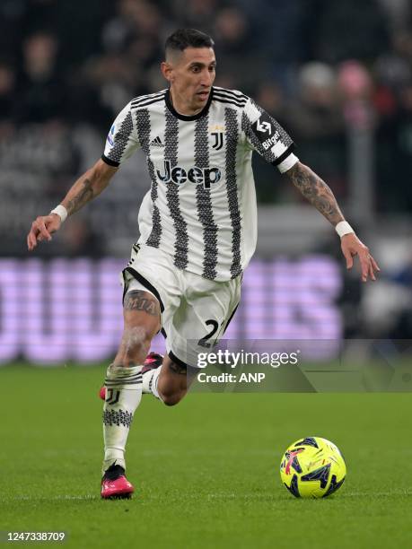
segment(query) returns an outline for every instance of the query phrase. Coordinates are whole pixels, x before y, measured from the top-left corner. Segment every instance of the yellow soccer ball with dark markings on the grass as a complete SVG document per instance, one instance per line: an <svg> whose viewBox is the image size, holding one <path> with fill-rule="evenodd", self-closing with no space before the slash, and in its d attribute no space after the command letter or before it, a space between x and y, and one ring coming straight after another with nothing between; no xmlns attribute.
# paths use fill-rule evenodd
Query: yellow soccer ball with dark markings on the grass
<svg viewBox="0 0 412 549"><path fill-rule="evenodd" d="M329 440L299 439L282 457L280 478L296 498L326 498L344 484L345 459Z"/></svg>

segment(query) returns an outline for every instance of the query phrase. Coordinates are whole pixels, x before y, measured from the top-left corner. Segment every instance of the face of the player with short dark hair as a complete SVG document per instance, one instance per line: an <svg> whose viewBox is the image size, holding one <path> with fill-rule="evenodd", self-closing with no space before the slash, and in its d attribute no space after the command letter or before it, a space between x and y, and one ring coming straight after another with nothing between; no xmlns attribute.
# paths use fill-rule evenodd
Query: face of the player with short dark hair
<svg viewBox="0 0 412 549"><path fill-rule="evenodd" d="M186 48L163 64L162 72L171 83L171 100L181 114L200 112L215 82L216 59L212 48Z"/></svg>

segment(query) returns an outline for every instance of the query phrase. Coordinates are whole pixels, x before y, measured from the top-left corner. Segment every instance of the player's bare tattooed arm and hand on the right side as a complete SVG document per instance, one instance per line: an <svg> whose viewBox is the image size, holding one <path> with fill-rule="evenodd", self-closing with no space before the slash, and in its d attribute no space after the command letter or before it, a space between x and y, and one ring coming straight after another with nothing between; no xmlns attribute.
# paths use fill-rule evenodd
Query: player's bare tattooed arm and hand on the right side
<svg viewBox="0 0 412 549"><path fill-rule="evenodd" d="M337 223L345 221L345 217L337 205L337 199L329 186L308 166L297 161L293 168L287 170L285 174L311 205L314 205L334 227L337 226ZM357 256L361 264L362 281L366 282L368 278L376 280L375 273L380 271L380 268L369 253L369 248L357 238L355 232L349 232L341 237L341 248L346 258L346 268L352 268L353 258Z"/></svg>

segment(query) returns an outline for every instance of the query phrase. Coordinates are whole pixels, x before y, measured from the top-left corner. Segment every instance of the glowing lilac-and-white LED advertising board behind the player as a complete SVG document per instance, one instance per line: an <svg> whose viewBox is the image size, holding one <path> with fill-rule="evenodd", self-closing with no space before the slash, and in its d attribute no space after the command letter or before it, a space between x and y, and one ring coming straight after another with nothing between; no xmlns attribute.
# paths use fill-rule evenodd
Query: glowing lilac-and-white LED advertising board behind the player
<svg viewBox="0 0 412 549"><path fill-rule="evenodd" d="M122 331L122 260L0 260L0 364L24 359L55 365L110 360ZM254 260L241 305L224 335L237 340L338 342L342 278L327 256ZM158 335L153 350L162 352Z"/></svg>

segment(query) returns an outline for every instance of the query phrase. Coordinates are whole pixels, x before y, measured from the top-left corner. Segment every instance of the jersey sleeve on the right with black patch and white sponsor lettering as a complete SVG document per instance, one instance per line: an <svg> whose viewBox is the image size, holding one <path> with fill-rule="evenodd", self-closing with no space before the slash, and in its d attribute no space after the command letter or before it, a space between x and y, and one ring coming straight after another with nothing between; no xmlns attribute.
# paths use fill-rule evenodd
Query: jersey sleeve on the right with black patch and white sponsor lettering
<svg viewBox="0 0 412 549"><path fill-rule="evenodd" d="M241 129L250 148L280 171L289 170L298 161L290 135L251 99L243 109Z"/></svg>

